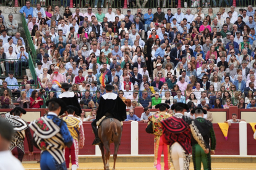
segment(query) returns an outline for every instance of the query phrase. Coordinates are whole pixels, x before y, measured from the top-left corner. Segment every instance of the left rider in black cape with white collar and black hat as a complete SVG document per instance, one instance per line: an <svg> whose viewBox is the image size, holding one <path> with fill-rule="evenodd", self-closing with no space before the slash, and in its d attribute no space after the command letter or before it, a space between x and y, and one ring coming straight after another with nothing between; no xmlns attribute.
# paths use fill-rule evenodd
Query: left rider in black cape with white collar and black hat
<svg viewBox="0 0 256 170"><path fill-rule="evenodd" d="M80 108L80 105L75 93L69 91L70 87L72 87L71 84L68 84L68 83L61 84L62 94L59 95L59 99L61 99L64 103L66 103L66 105L72 105L74 107L79 108L79 115L80 115L82 113L82 110Z"/></svg>

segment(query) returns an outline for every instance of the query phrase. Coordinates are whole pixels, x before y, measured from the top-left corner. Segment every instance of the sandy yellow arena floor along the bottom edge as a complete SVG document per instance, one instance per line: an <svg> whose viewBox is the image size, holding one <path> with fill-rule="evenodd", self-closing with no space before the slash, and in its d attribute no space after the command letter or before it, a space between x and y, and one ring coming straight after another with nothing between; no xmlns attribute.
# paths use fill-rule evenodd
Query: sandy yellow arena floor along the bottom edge
<svg viewBox="0 0 256 170"><path fill-rule="evenodd" d="M164 164L162 164L162 169L163 169L163 165ZM26 170L40 169L39 163L35 163L35 164L24 163L23 166ZM112 169L113 163L110 163L110 166ZM80 163L79 169L103 170L103 164ZM131 169L148 170L148 169L155 169L155 168L153 168L153 163L116 163L116 169L117 170L131 170ZM171 167L171 169L173 168ZM190 163L190 169L194 169L192 163ZM255 169L256 170L256 163L212 163L211 169L221 169L221 170L240 170L240 169L253 170Z"/></svg>

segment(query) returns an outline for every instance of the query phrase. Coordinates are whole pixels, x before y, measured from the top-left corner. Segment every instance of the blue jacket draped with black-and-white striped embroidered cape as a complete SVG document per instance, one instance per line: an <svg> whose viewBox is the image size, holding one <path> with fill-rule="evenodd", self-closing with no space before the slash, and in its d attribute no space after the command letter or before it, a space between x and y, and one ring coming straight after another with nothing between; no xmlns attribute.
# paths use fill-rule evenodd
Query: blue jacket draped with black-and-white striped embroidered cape
<svg viewBox="0 0 256 170"><path fill-rule="evenodd" d="M65 161L63 154L65 145L71 147L73 138L67 129L67 124L50 113L32 121L29 126L34 131L35 147L42 151L47 150L58 164L62 164Z"/></svg>

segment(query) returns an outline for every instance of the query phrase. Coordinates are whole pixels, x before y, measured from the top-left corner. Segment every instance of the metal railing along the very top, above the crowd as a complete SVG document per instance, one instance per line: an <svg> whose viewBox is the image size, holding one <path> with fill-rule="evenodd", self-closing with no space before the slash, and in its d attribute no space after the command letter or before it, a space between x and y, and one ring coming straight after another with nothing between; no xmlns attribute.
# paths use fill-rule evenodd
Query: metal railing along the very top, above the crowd
<svg viewBox="0 0 256 170"><path fill-rule="evenodd" d="M16 2L15 2L16 1ZM153 0L153 1L142 1L142 0L132 0L132 2L129 2L129 0L73 0L72 6L70 6L70 0L60 0L60 1L48 1L46 0L45 4L43 4L43 2L41 2L41 6L42 7L47 7L49 5L55 7L55 6L59 6L59 7L95 7L101 6L101 3L103 4L103 7L114 7L114 8L123 8L124 7L124 1L126 1L127 5L129 5L129 8L139 8L139 7L145 7L145 8L155 8L155 7L171 7L171 8L176 8L177 4L178 4L178 0ZM35 7L36 2L40 2L40 1L36 1L36 0L32 0L31 1L31 6ZM186 2L186 3L185 3ZM207 4L210 4L211 7L229 7L229 6L233 6L233 0L203 0L203 1L183 1L181 0L181 7L203 7L203 3L204 5L205 2L207 2ZM255 6L255 1L237 1L236 0L236 7L247 7L249 5ZM8 7L22 7L25 6L25 1L22 0L1 0L0 1L0 6L8 6ZM206 6L205 6L206 7Z"/></svg>

